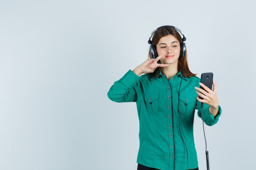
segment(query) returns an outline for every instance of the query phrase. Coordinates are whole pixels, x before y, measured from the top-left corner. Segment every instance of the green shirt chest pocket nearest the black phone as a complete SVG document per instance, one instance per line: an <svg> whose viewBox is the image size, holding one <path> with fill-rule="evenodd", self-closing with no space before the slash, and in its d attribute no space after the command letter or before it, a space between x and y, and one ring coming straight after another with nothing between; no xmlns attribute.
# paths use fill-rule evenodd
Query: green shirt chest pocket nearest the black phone
<svg viewBox="0 0 256 170"><path fill-rule="evenodd" d="M195 97L191 95L180 95L180 106L178 110L182 114L190 114L195 111Z"/></svg>

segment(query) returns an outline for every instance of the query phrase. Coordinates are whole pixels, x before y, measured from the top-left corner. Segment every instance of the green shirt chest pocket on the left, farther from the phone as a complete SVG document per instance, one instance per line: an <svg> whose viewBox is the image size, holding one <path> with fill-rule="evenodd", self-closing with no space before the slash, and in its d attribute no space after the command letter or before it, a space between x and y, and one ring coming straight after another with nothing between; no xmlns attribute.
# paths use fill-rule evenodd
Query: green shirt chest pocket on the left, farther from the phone
<svg viewBox="0 0 256 170"><path fill-rule="evenodd" d="M145 95L146 109L148 113L159 111L159 93Z"/></svg>

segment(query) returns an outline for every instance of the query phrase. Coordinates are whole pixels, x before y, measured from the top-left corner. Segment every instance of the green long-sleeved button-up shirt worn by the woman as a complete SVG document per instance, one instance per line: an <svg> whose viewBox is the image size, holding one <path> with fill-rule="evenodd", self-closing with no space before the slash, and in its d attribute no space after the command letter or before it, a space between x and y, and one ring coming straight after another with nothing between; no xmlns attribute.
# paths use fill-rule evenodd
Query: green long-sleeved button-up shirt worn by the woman
<svg viewBox="0 0 256 170"><path fill-rule="evenodd" d="M201 103L196 99L197 93L194 88L200 87L200 78L183 77L180 87L181 79L181 72L168 80L162 72L154 78L150 74L137 76L129 70L108 91L109 99L114 102L137 104L139 116L137 163L160 170L186 170L187 148L189 169L198 167L193 121L195 109L198 109L198 116L202 118ZM180 107L178 107L179 87ZM220 106L217 116L213 117L209 112L209 105L203 105L205 124L209 126L216 124L220 114Z"/></svg>

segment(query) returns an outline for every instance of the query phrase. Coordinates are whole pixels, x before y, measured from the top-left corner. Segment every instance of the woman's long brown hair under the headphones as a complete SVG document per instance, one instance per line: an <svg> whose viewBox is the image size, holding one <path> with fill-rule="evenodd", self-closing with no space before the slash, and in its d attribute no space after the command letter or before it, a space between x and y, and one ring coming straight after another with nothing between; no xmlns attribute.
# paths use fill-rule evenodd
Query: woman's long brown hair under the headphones
<svg viewBox="0 0 256 170"><path fill-rule="evenodd" d="M164 26L164 27L161 27L159 29L157 29L157 31L155 31L154 33L154 36L152 38L152 45L155 46L156 48L156 45L157 43L159 42L159 40L166 36L166 35L173 35L175 36L175 38L177 38L177 40L182 43L182 38L180 36L180 33L178 33L178 31L176 29L174 29L173 27L171 26ZM148 52L148 59L151 59L151 55L150 55L150 51ZM161 63L160 60L157 61L157 63ZM184 72L183 72L183 64L184 64ZM162 67L157 67L155 69L155 71L153 73L149 73L151 74L153 77L157 77L157 75L160 73ZM179 57L178 59L178 71L181 71L182 72L182 75L184 77L192 77L192 76L196 76L196 74L193 74L191 73L191 71L189 70L189 65L188 65L188 61L187 61L187 50L186 50L186 54L184 56L184 60L182 57Z"/></svg>

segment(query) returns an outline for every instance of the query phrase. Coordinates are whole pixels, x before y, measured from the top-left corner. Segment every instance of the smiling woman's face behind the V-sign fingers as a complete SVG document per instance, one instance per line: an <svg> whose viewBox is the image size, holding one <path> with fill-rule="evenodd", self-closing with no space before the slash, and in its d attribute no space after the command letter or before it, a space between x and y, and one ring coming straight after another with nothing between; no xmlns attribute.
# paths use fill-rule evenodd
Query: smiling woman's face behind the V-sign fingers
<svg viewBox="0 0 256 170"><path fill-rule="evenodd" d="M156 45L157 54L161 55L166 51L160 61L162 64L177 64L180 56L180 43L173 35L162 37Z"/></svg>

